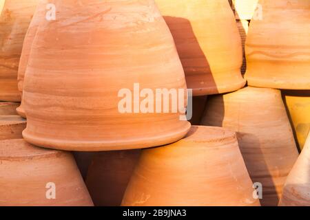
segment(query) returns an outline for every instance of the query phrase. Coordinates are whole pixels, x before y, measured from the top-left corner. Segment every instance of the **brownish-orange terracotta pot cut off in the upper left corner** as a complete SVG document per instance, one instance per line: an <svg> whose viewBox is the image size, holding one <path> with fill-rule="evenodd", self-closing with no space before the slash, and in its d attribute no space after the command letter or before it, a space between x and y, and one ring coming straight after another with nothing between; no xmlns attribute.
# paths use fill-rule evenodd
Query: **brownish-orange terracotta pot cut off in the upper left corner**
<svg viewBox="0 0 310 220"><path fill-rule="evenodd" d="M0 100L19 102L17 70L23 39L39 0L1 0Z"/></svg>

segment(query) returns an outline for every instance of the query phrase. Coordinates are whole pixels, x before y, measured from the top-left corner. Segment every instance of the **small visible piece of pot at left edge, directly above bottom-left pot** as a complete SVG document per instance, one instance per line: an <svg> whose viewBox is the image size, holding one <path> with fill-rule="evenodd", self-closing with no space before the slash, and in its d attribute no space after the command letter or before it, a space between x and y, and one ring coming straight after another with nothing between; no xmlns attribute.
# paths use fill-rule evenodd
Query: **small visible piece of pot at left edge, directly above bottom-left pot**
<svg viewBox="0 0 310 220"><path fill-rule="evenodd" d="M0 140L21 138L26 124L19 115L0 115Z"/></svg>

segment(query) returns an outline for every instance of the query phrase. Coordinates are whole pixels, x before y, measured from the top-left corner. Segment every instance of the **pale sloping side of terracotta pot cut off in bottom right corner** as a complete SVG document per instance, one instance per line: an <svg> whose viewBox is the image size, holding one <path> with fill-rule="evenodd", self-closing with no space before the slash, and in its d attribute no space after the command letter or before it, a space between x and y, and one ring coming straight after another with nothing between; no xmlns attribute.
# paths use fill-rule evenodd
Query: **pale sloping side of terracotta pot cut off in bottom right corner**
<svg viewBox="0 0 310 220"><path fill-rule="evenodd" d="M310 206L310 134L285 181L279 206Z"/></svg>

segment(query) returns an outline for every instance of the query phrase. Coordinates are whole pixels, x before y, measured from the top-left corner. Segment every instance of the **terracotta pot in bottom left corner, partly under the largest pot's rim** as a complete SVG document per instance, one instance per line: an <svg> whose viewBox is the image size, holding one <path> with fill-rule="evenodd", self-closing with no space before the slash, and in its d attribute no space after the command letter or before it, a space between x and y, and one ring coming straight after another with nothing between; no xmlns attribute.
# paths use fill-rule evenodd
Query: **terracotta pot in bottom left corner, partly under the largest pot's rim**
<svg viewBox="0 0 310 220"><path fill-rule="evenodd" d="M0 206L93 206L71 153L0 142Z"/></svg>

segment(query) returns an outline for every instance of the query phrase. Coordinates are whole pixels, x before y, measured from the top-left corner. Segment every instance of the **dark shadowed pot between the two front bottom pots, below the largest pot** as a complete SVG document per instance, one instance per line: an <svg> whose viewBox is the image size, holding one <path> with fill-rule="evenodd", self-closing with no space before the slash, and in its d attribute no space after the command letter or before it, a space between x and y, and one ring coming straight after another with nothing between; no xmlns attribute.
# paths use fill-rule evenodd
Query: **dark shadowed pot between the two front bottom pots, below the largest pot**
<svg viewBox="0 0 310 220"><path fill-rule="evenodd" d="M141 150L97 153L86 186L95 206L120 206Z"/></svg>

